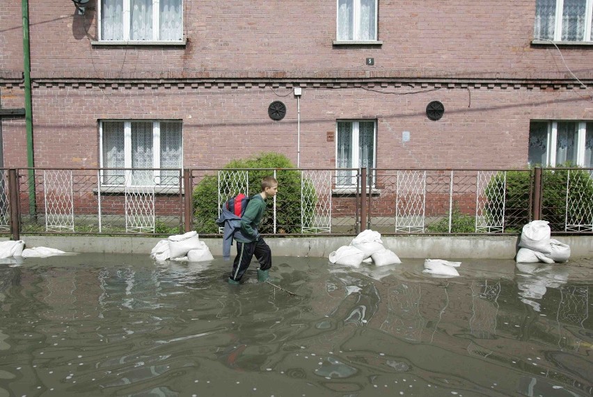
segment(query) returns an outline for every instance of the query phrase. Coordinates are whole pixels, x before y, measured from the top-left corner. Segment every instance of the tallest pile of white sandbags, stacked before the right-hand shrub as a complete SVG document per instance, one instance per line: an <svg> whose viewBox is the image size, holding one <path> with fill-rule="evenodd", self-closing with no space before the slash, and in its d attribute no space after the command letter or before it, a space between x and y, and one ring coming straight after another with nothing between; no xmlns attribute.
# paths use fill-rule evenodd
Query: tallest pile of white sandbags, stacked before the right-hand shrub
<svg viewBox="0 0 593 397"><path fill-rule="evenodd" d="M523 226L517 263L566 262L570 258L568 244L551 238L551 229L547 220L534 220Z"/></svg>

